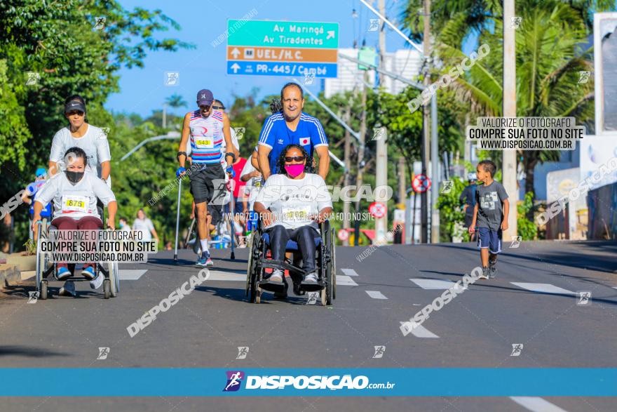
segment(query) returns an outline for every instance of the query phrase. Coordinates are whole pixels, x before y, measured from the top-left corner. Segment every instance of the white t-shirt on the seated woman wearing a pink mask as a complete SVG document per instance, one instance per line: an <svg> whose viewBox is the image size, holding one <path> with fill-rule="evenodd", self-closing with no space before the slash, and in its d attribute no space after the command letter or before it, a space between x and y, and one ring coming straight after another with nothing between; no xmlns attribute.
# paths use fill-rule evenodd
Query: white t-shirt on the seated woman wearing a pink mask
<svg viewBox="0 0 617 412"><path fill-rule="evenodd" d="M301 179L290 179L283 174L271 175L255 201L276 216L266 229L274 225L283 225L285 229L311 225L318 230L319 226L311 220L311 215L332 207L332 197L323 178L313 173L305 173Z"/></svg>

